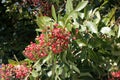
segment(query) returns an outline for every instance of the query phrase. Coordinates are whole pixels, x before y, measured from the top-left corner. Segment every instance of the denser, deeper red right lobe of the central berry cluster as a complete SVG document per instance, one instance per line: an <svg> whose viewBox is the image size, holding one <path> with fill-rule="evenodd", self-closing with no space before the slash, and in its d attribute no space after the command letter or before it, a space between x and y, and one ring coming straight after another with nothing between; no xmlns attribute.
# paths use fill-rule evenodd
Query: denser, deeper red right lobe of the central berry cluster
<svg viewBox="0 0 120 80"><path fill-rule="evenodd" d="M65 29L54 28L51 35L52 51L57 54L68 48L70 33Z"/></svg>

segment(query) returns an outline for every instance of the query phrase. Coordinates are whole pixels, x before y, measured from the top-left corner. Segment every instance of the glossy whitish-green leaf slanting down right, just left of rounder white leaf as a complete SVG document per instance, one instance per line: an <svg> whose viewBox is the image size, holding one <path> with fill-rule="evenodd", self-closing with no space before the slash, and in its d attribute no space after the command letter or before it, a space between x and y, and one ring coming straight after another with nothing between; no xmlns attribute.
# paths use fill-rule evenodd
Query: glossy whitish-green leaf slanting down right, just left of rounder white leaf
<svg viewBox="0 0 120 80"><path fill-rule="evenodd" d="M95 23L91 22L91 21L86 21L85 25L88 27L88 29L92 32L92 33L98 33L98 29Z"/></svg>

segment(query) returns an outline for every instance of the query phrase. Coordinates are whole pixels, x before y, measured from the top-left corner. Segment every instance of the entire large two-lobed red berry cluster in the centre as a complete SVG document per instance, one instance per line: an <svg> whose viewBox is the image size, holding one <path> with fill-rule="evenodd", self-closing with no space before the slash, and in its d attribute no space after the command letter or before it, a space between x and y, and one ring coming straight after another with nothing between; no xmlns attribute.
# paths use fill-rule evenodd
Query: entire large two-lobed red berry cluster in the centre
<svg viewBox="0 0 120 80"><path fill-rule="evenodd" d="M40 36L37 36L37 43L31 43L28 45L23 53L33 61L47 56L50 51L54 54L58 54L68 48L69 38L70 33L65 29L54 28L46 35L42 33Z"/></svg>

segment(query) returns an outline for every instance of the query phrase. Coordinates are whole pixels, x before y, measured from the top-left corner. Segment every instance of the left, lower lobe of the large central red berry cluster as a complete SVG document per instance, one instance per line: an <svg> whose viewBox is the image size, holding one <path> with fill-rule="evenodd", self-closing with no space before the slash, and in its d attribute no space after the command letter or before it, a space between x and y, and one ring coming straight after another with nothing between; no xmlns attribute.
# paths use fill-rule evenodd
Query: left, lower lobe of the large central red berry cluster
<svg viewBox="0 0 120 80"><path fill-rule="evenodd" d="M28 45L23 51L24 55L33 61L47 56L47 47L45 47L46 43L44 40L44 35L41 34L39 37L36 38L36 40L39 41L38 44L31 42L30 45Z"/></svg>

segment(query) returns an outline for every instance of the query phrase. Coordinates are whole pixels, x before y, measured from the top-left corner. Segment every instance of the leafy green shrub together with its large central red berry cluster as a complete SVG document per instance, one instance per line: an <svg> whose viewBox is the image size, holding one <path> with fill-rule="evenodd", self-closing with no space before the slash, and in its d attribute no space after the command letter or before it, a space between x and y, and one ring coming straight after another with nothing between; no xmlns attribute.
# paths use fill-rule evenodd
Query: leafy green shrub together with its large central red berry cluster
<svg viewBox="0 0 120 80"><path fill-rule="evenodd" d="M29 58L28 65L32 65L25 80L120 78L118 5L112 7L112 4L108 9L109 0L77 2L67 0L65 8L60 7L58 11L52 5L52 17L38 13L38 36L23 51Z"/></svg>

